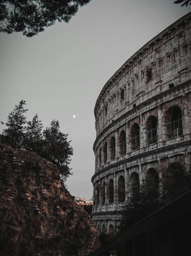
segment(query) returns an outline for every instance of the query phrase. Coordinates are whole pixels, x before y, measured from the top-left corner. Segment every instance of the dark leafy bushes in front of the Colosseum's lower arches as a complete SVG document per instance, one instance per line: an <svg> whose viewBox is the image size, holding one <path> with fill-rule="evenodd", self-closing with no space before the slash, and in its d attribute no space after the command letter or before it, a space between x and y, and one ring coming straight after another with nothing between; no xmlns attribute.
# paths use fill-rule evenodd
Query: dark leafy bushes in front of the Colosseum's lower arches
<svg viewBox="0 0 191 256"><path fill-rule="evenodd" d="M191 189L190 166L183 162L173 163L168 174L160 179L160 183L147 178L139 189L136 183L131 185L128 200L121 208L117 235Z"/></svg>

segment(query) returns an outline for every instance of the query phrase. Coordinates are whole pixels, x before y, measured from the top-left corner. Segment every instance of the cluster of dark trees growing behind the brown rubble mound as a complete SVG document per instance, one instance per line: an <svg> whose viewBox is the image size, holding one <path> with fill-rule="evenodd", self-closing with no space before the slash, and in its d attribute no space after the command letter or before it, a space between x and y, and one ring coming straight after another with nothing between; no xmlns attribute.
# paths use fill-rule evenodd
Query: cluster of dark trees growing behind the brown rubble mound
<svg viewBox="0 0 191 256"><path fill-rule="evenodd" d="M24 105L26 105L25 101L21 100L9 113L5 123L7 128L0 134L0 140L2 143L10 144L12 148L35 152L55 164L64 184L72 175L68 165L71 161L70 156L73 155L73 148L70 147L71 141L67 141L68 134L60 131L58 120L53 120L44 130L37 114L32 121L27 122L24 114L28 109L24 109Z"/></svg>

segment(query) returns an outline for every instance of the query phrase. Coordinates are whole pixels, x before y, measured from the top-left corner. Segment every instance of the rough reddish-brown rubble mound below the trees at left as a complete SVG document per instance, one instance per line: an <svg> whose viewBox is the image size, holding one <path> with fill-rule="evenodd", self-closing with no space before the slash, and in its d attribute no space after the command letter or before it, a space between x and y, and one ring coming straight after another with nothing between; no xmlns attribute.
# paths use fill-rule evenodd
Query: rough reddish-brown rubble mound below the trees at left
<svg viewBox="0 0 191 256"><path fill-rule="evenodd" d="M54 164L0 142L1 256L87 255L98 235Z"/></svg>

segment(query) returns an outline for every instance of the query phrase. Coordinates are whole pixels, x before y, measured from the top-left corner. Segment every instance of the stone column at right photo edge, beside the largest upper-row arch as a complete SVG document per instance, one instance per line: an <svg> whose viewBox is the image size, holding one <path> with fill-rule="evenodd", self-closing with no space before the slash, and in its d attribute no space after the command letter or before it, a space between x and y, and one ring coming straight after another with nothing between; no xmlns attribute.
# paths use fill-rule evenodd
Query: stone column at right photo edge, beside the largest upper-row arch
<svg viewBox="0 0 191 256"><path fill-rule="evenodd" d="M184 95L183 96L183 106L184 106L184 121L182 123L182 126L184 127L183 129L183 135L184 135L184 140L190 140L190 118L189 118L189 106L188 106L188 96ZM183 118L182 118L183 119Z"/></svg>

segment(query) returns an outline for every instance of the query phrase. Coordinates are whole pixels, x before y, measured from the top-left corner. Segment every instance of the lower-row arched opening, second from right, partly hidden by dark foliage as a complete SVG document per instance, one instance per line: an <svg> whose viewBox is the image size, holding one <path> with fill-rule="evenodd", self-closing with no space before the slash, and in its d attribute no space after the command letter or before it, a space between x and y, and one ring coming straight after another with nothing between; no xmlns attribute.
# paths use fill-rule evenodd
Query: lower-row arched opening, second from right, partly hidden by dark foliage
<svg viewBox="0 0 191 256"><path fill-rule="evenodd" d="M159 194L159 175L154 168L150 168L147 171L145 178L147 189L154 196L158 196Z"/></svg>

